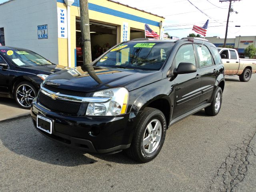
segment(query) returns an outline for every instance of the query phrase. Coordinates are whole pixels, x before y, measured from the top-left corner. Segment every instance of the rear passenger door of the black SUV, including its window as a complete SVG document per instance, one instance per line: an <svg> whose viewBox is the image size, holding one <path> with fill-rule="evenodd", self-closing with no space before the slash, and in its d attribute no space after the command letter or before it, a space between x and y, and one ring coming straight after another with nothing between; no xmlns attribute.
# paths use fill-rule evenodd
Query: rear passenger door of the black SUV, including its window
<svg viewBox="0 0 256 192"><path fill-rule="evenodd" d="M214 63L212 54L207 46L195 44L196 55L198 58L198 72L201 73L202 83L199 103L208 102L212 97L214 84L218 77L218 68ZM217 51L218 52L218 51Z"/></svg>

